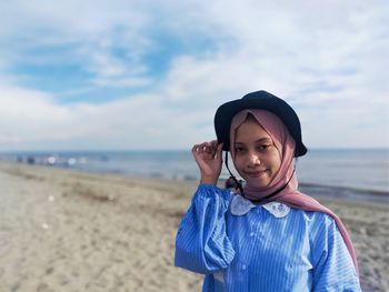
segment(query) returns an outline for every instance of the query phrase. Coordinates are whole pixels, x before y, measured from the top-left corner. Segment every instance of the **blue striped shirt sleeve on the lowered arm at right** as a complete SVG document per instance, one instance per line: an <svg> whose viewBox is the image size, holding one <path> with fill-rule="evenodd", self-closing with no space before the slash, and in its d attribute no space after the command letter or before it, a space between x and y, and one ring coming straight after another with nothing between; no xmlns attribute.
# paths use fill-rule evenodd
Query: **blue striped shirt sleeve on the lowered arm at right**
<svg viewBox="0 0 389 292"><path fill-rule="evenodd" d="M313 232L313 291L361 291L356 269L335 220L322 214Z"/></svg>

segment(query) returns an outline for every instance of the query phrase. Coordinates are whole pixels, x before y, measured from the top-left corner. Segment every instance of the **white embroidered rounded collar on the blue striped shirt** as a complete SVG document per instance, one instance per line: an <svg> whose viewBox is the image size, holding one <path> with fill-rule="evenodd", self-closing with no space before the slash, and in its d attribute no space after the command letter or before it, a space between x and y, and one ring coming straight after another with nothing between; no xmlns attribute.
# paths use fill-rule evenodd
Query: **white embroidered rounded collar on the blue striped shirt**
<svg viewBox="0 0 389 292"><path fill-rule="evenodd" d="M230 210L233 215L245 215L252 208L259 207L263 207L270 214L276 218L283 218L290 212L290 207L283 203L270 202L262 205L256 205L250 200L245 199L240 194L233 195Z"/></svg>

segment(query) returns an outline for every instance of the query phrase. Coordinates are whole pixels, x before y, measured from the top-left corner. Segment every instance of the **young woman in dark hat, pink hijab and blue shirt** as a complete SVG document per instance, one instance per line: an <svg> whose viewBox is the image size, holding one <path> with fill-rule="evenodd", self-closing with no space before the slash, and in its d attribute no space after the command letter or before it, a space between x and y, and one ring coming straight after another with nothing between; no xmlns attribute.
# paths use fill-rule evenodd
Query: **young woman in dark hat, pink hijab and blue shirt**
<svg viewBox="0 0 389 292"><path fill-rule="evenodd" d="M218 140L196 144L201 180L176 240L176 265L205 274L202 291L360 291L356 254L339 218L298 191L307 152L283 100L257 91L222 104ZM246 181L217 187L222 150ZM228 159L226 152L226 165Z"/></svg>

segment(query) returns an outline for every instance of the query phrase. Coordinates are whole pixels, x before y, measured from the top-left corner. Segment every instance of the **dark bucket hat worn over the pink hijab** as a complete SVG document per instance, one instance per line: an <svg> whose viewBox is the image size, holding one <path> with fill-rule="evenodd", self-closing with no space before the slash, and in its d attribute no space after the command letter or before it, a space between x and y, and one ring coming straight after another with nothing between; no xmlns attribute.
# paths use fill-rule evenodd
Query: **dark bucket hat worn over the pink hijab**
<svg viewBox="0 0 389 292"><path fill-rule="evenodd" d="M219 107L215 114L215 131L219 143L223 143L223 150L230 150L230 127L232 118L246 109L267 110L275 113L285 123L296 142L295 157L302 157L307 148L301 141L301 125L295 110L283 100L265 91L256 91L246 94L241 99L226 102Z"/></svg>

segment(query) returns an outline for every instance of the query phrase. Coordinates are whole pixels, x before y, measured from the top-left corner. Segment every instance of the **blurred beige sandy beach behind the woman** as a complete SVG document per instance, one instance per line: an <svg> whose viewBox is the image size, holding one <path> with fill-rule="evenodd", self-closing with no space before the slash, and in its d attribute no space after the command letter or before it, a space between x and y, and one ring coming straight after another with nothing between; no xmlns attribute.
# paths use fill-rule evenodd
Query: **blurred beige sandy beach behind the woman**
<svg viewBox="0 0 389 292"><path fill-rule="evenodd" d="M201 291L173 266L194 183L0 162L0 291ZM363 291L389 288L389 205L320 201L345 222Z"/></svg>

